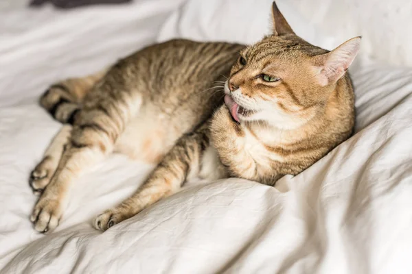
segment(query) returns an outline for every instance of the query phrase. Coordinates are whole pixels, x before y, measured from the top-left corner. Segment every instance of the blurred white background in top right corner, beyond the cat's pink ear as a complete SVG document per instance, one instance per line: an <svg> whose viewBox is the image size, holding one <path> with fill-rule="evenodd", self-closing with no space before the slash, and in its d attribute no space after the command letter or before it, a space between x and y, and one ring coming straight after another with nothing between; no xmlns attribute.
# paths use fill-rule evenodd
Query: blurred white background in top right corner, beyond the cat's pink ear
<svg viewBox="0 0 412 274"><path fill-rule="evenodd" d="M361 51L387 64L412 66L412 1L288 0L323 34L363 36Z"/></svg>

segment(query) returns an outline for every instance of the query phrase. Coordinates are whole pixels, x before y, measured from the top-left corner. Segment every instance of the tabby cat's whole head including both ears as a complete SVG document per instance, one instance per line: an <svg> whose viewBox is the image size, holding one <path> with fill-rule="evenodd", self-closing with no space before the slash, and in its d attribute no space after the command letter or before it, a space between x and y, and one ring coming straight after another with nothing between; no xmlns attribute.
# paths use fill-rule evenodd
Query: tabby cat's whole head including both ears
<svg viewBox="0 0 412 274"><path fill-rule="evenodd" d="M273 2L273 34L240 52L225 84L236 121L294 129L325 108L358 53L361 37L333 51L299 38Z"/></svg>

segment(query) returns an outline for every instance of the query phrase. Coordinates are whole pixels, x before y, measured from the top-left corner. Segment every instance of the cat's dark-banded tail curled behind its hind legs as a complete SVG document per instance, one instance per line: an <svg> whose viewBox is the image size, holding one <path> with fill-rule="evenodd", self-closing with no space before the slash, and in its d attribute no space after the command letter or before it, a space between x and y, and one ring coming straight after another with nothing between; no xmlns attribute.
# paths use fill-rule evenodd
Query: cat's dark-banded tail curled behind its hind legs
<svg viewBox="0 0 412 274"><path fill-rule="evenodd" d="M82 99L107 71L104 69L86 77L69 78L52 84L41 96L41 106L57 121L73 124Z"/></svg>

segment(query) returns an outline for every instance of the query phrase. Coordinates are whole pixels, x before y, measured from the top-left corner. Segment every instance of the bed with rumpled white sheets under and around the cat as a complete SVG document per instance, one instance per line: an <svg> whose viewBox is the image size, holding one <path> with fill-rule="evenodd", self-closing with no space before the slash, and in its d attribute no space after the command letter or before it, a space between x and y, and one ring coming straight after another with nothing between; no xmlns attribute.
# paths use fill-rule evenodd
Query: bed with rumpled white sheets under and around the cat
<svg viewBox="0 0 412 274"><path fill-rule="evenodd" d="M278 2L295 32L316 45L332 49L363 34L378 47L361 28L343 39L303 15L299 1ZM412 273L412 64L374 58L385 47L364 48L350 69L354 136L275 188L242 179L189 182L102 233L93 217L152 169L112 155L76 182L55 232L32 228L28 177L61 126L37 104L49 84L174 37L254 42L270 32L270 4L0 6L0 273Z"/></svg>

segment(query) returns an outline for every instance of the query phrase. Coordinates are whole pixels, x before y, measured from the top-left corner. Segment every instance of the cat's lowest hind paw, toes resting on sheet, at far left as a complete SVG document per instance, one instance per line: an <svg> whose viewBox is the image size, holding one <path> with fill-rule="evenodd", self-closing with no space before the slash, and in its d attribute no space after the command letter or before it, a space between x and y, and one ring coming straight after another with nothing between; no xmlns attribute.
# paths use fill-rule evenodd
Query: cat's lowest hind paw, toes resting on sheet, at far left
<svg viewBox="0 0 412 274"><path fill-rule="evenodd" d="M36 231L46 233L58 226L61 216L62 208L59 199L45 192L34 206L30 221L34 223Z"/></svg>

